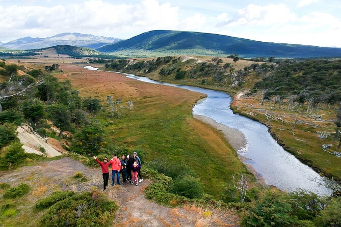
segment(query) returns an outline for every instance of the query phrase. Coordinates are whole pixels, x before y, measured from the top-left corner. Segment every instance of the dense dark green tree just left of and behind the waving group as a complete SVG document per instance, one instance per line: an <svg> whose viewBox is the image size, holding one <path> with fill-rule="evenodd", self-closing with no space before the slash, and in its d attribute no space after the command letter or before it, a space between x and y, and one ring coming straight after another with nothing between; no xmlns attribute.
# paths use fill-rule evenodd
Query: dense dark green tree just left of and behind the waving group
<svg viewBox="0 0 341 227"><path fill-rule="evenodd" d="M78 154L94 156L106 144L104 143L104 130L100 123L90 123L82 127L80 133L75 135L75 142L71 146L71 151Z"/></svg>

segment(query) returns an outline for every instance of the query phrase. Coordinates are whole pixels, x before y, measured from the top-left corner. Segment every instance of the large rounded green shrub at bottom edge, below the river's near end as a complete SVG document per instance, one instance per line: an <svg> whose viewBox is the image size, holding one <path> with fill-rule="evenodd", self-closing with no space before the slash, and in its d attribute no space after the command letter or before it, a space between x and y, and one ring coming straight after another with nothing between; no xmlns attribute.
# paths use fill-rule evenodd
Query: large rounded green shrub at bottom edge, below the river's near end
<svg viewBox="0 0 341 227"><path fill-rule="evenodd" d="M288 196L276 189L259 194L242 213L242 226L293 226L297 217L291 216L292 207Z"/></svg>

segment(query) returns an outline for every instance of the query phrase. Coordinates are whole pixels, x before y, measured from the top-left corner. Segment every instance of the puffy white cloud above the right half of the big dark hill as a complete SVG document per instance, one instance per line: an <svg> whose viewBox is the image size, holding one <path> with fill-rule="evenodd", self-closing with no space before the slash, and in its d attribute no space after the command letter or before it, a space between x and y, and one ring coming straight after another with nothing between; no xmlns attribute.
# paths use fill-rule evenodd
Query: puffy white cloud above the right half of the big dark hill
<svg viewBox="0 0 341 227"><path fill-rule="evenodd" d="M296 20L296 14L291 12L284 4L257 6L250 4L246 8L238 10L237 13L229 20L225 15L220 14L220 21L216 24L219 26L240 26L240 25L261 25L268 26L273 24L284 24Z"/></svg>

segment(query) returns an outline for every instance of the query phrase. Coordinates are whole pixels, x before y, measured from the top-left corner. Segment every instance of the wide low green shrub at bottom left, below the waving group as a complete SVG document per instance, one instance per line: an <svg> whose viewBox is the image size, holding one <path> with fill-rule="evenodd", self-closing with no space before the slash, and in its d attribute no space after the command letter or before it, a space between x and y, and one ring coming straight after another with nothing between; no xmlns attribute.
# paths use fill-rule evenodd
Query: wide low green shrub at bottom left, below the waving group
<svg viewBox="0 0 341 227"><path fill-rule="evenodd" d="M118 209L113 201L96 191L82 192L50 206L41 226L107 226Z"/></svg>

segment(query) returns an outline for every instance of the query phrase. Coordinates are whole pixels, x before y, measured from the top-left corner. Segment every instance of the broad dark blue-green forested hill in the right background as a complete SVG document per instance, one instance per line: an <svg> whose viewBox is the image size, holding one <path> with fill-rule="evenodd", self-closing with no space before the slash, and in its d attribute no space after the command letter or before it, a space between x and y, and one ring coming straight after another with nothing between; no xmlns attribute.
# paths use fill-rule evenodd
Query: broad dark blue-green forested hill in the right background
<svg viewBox="0 0 341 227"><path fill-rule="evenodd" d="M155 30L97 50L116 55L225 55L238 53L246 58L310 58L341 56L341 48L298 44L267 43L217 34Z"/></svg>

